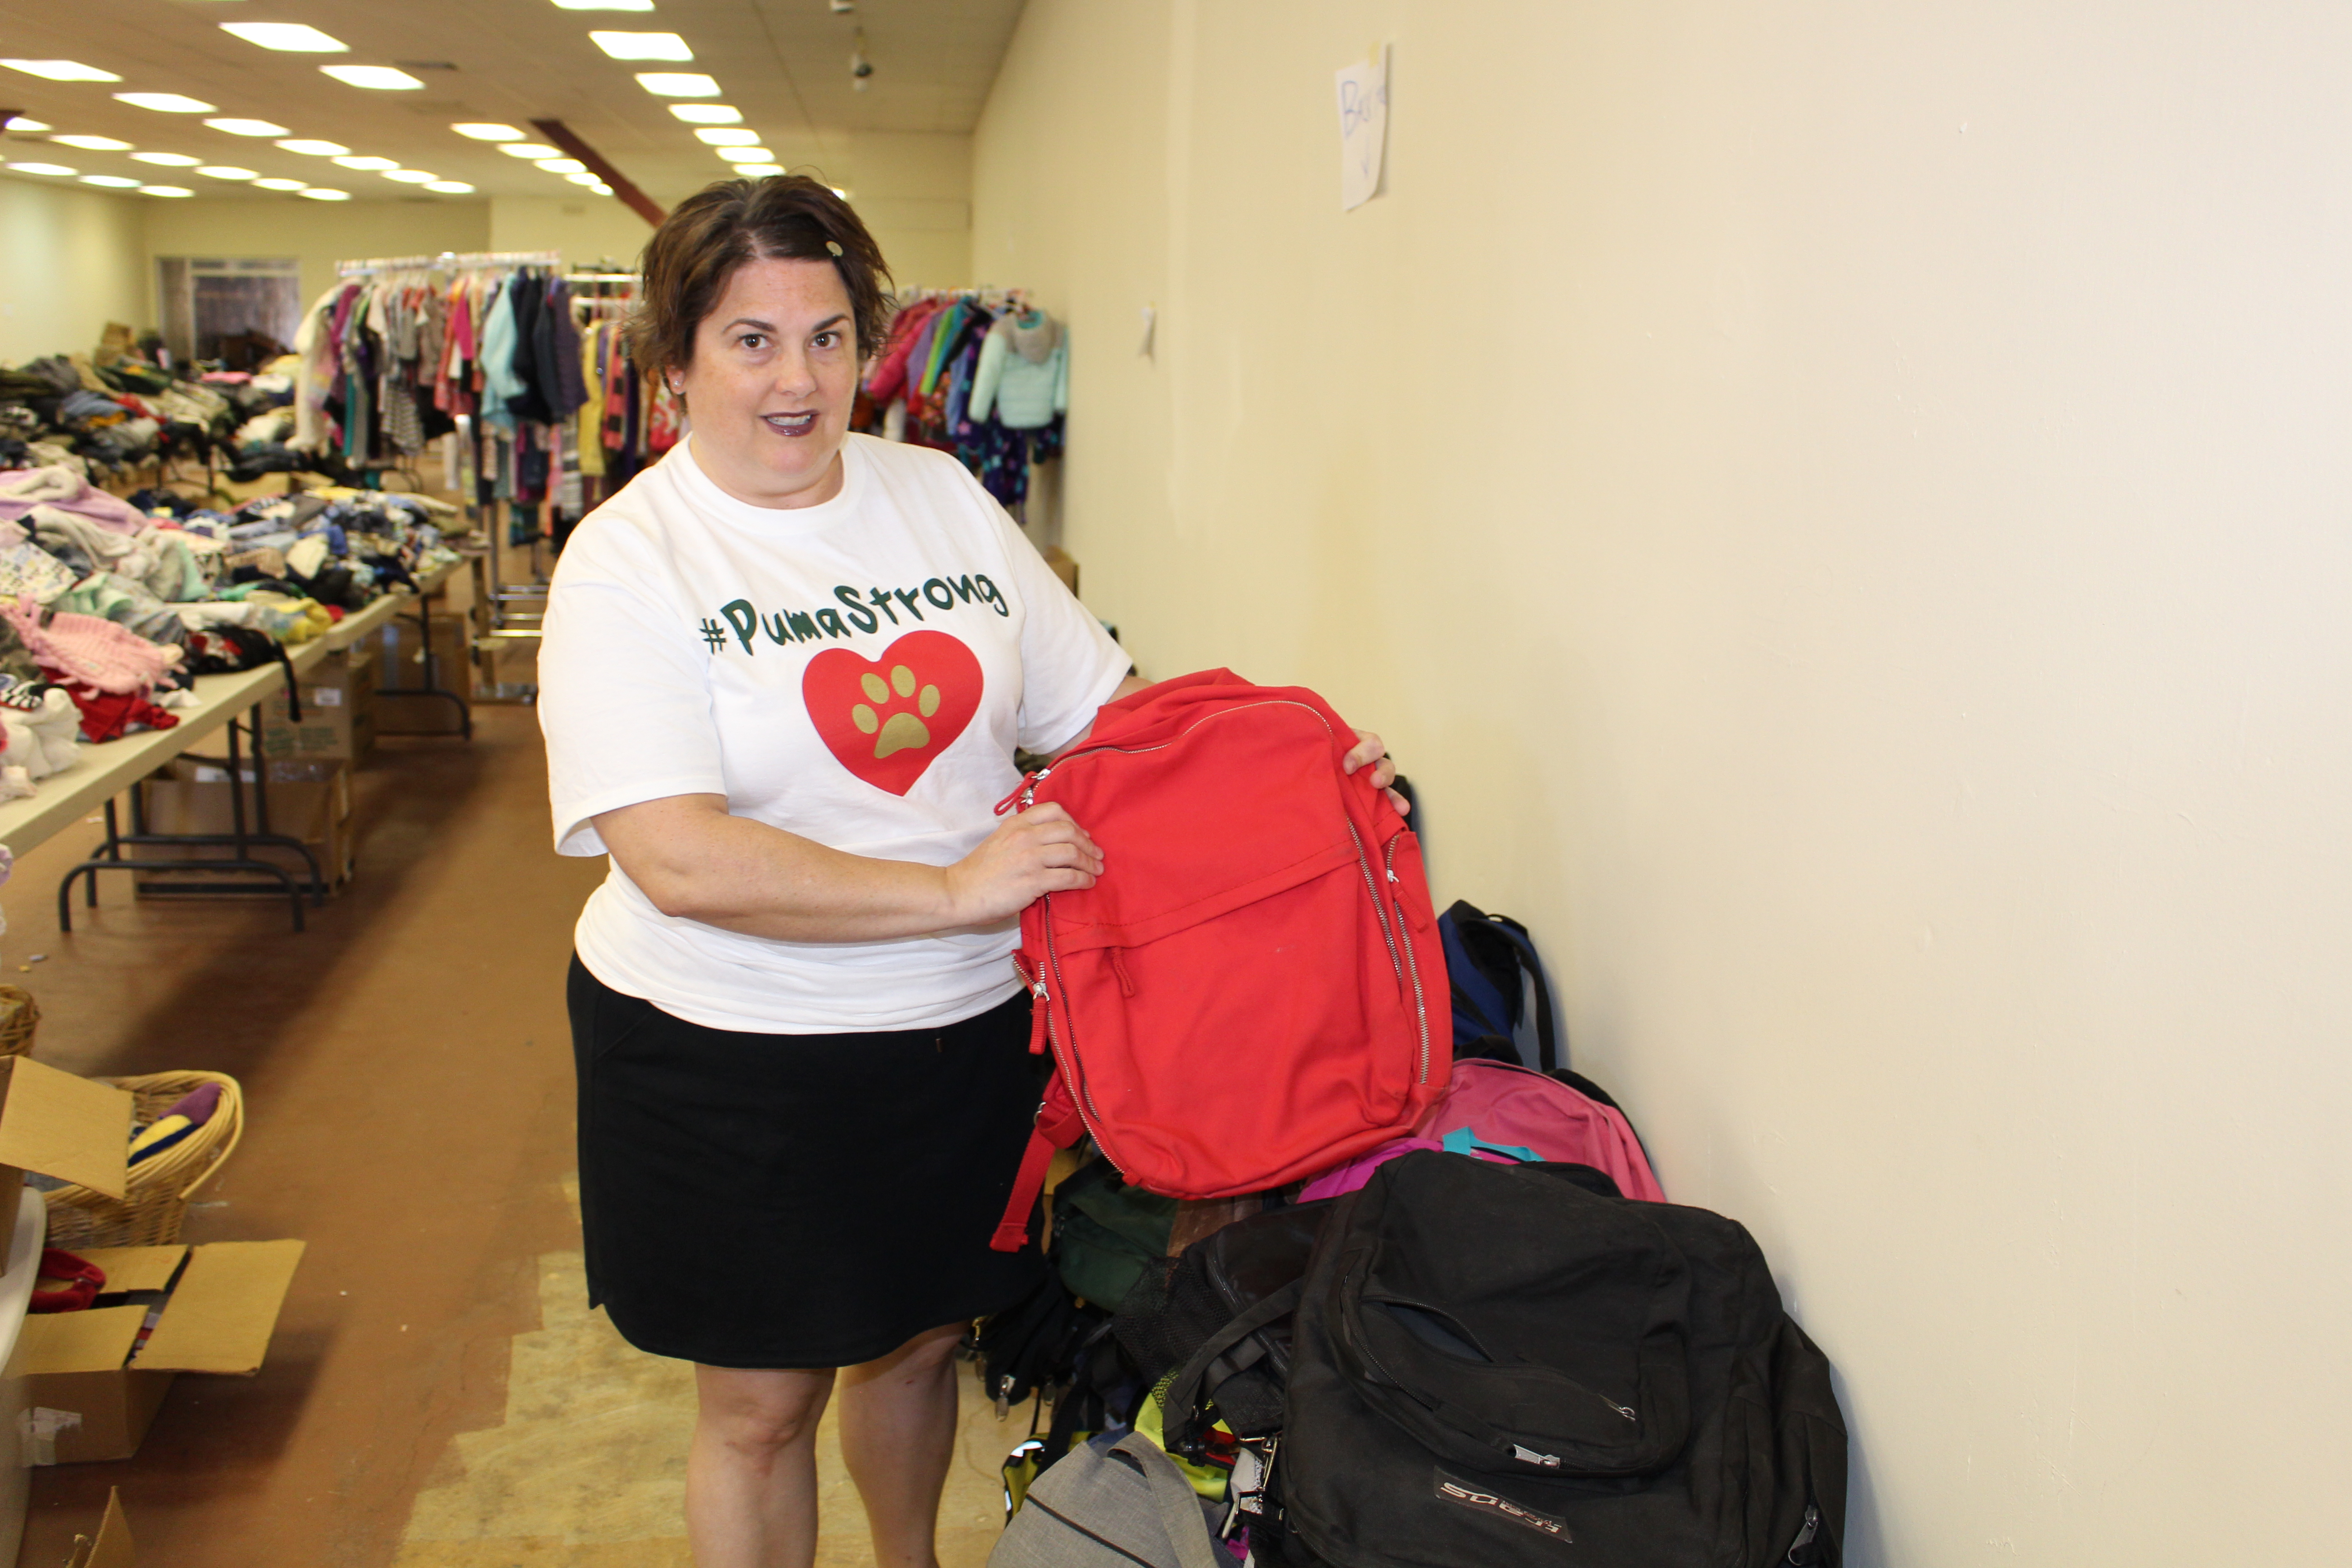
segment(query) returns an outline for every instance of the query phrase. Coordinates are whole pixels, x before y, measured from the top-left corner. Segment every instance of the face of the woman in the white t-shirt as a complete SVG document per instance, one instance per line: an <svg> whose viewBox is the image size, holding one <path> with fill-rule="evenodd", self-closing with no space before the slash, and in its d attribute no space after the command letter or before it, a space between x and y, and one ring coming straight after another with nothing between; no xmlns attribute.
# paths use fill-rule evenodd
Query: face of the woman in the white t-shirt
<svg viewBox="0 0 2352 1568"><path fill-rule="evenodd" d="M694 461L736 501L818 505L842 489L858 327L830 261L746 261L675 371Z"/></svg>

